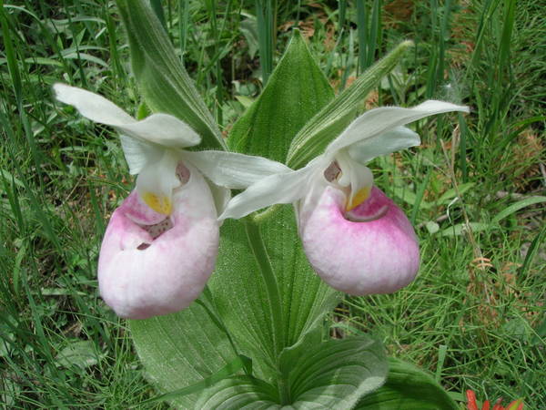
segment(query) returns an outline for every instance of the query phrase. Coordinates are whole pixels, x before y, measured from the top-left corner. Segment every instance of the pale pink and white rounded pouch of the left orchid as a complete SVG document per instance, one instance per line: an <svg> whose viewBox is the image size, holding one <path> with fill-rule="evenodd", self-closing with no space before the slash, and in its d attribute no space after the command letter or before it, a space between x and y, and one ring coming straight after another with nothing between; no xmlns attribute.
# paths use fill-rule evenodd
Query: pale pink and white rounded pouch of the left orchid
<svg viewBox="0 0 546 410"><path fill-rule="evenodd" d="M146 319L186 308L214 269L217 211L205 179L187 168L191 172L187 184L173 192L168 231L161 233L165 228L160 227L158 236L157 230L152 236L134 221L135 191L108 223L98 283L105 302L121 317Z"/></svg>

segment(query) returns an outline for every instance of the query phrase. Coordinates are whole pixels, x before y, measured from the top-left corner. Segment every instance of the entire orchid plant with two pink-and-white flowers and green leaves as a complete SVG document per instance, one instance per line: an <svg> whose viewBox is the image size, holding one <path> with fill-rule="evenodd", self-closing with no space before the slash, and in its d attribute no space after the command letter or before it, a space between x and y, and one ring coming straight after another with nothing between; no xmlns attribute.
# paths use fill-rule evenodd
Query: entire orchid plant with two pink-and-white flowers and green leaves
<svg viewBox="0 0 546 410"><path fill-rule="evenodd" d="M181 408L457 408L430 375L368 335L329 339L343 293L395 292L419 269L410 221L369 160L420 144L410 122L441 101L376 108L362 98L404 42L334 96L296 31L227 139L144 0L118 0L139 120L62 84L58 100L118 131L134 190L99 257L105 302L129 318L149 380ZM339 292L341 291L341 292Z"/></svg>

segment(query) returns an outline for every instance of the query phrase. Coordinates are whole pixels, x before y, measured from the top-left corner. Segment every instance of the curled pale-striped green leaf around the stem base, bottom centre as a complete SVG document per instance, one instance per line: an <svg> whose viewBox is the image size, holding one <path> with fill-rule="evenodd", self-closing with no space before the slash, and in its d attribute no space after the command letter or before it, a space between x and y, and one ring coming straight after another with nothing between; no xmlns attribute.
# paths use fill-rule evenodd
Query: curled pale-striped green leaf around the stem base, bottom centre
<svg viewBox="0 0 546 410"><path fill-rule="evenodd" d="M339 409L352 408L387 376L380 343L369 337L304 343L281 356L288 395L248 376L230 377L205 390L197 408Z"/></svg>

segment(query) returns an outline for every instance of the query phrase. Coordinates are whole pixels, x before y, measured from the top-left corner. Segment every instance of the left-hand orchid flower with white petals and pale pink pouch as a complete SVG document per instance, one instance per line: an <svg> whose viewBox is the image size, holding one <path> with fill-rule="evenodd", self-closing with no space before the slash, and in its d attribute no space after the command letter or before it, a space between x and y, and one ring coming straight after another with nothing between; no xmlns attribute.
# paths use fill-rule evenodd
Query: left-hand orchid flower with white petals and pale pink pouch
<svg viewBox="0 0 546 410"><path fill-rule="evenodd" d="M286 172L278 162L224 151L187 151L201 138L181 120L137 121L106 98L64 84L56 98L120 134L134 190L108 223L98 261L102 298L121 317L145 319L186 308L214 270L228 189Z"/></svg>

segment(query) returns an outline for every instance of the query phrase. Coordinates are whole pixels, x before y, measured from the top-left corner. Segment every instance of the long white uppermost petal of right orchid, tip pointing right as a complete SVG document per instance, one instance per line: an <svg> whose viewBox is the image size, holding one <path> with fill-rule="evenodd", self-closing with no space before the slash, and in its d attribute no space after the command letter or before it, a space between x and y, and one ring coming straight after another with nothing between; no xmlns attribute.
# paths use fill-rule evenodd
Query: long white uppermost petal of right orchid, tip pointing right
<svg viewBox="0 0 546 410"><path fill-rule="evenodd" d="M443 112L469 112L468 107L456 106L444 101L429 100L414 108L382 107L370 109L355 119L345 131L334 139L326 149L326 154L334 155L339 149L349 147L359 141L379 138L381 135L400 126ZM377 144L377 145L376 145ZM381 142L374 143L375 155L389 153L389 145L380 149Z"/></svg>

